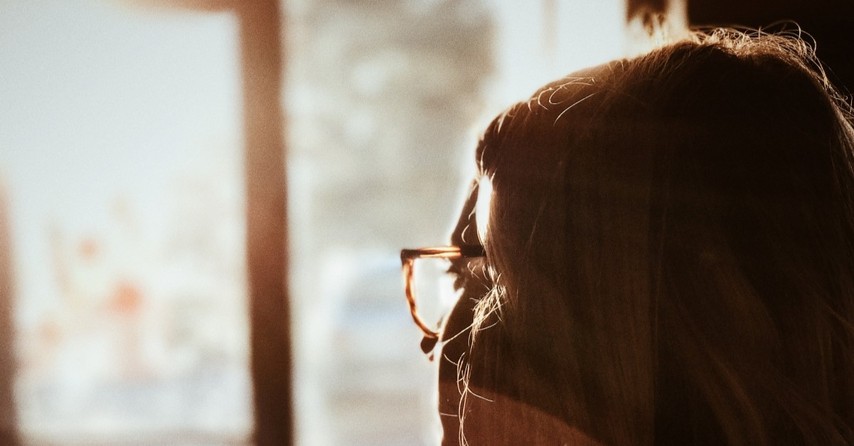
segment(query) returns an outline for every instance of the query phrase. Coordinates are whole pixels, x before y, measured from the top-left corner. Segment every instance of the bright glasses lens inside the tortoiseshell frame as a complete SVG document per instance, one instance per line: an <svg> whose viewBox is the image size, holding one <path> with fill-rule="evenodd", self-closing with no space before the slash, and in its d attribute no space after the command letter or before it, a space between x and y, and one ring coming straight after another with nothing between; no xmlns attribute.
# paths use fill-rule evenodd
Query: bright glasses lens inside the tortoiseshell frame
<svg viewBox="0 0 854 446"><path fill-rule="evenodd" d="M413 269L418 317L433 331L441 331L445 317L457 302L449 266L445 259L421 258L415 261Z"/></svg>

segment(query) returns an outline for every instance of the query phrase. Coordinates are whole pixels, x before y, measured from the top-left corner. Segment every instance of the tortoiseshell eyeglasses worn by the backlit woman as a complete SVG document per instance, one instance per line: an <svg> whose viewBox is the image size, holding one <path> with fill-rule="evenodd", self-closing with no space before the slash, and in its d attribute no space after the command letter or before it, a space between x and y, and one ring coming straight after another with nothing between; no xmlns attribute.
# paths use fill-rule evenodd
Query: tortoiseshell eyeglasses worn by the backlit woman
<svg viewBox="0 0 854 446"><path fill-rule="evenodd" d="M438 246L400 251L409 312L415 325L424 333L425 339L439 338L442 324L456 300L455 296L450 296L452 286L446 283L444 285L447 286L443 287L441 283L442 278L450 280L447 274L448 261L484 255L486 252L480 245Z"/></svg>

